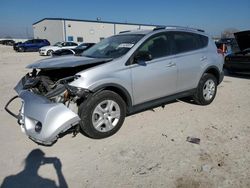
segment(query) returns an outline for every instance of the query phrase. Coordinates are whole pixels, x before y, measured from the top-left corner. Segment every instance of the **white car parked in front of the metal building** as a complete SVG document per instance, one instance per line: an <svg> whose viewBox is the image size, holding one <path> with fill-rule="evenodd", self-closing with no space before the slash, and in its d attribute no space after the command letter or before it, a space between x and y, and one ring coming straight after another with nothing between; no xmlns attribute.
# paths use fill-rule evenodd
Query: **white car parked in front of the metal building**
<svg viewBox="0 0 250 188"><path fill-rule="evenodd" d="M51 56L53 52L60 49L72 49L77 47L78 44L74 42L57 42L53 46L46 46L39 49L40 55Z"/></svg>

